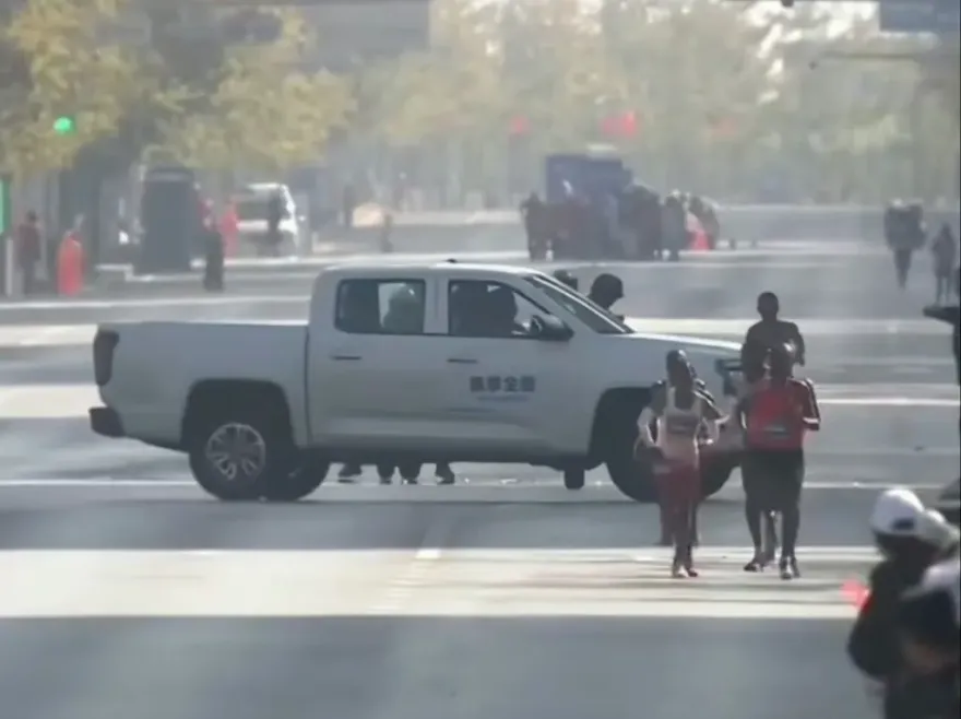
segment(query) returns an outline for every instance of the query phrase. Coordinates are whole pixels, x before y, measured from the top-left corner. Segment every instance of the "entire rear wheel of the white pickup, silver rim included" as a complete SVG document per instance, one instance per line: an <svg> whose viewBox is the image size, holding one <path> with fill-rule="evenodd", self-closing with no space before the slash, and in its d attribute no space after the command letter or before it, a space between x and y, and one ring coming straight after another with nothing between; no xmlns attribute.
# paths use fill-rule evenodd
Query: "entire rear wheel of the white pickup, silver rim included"
<svg viewBox="0 0 961 719"><path fill-rule="evenodd" d="M272 413L235 409L200 417L191 432L190 470L207 494L224 502L264 496L277 478L292 475L290 438Z"/></svg>

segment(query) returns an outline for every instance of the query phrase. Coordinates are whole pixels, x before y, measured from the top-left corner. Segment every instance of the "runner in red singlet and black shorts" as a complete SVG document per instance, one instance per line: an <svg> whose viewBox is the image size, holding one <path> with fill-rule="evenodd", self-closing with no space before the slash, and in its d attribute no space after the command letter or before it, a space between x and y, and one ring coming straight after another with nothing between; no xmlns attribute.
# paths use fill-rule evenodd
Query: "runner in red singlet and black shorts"
<svg viewBox="0 0 961 719"><path fill-rule="evenodd" d="M804 483L804 440L821 426L814 386L791 376L791 345L769 353L769 376L755 384L735 412L745 431L741 462L745 517L755 546L746 571L759 571L769 557L762 552L761 516L780 511L784 522L781 577L799 577L795 549L800 526L800 490Z"/></svg>

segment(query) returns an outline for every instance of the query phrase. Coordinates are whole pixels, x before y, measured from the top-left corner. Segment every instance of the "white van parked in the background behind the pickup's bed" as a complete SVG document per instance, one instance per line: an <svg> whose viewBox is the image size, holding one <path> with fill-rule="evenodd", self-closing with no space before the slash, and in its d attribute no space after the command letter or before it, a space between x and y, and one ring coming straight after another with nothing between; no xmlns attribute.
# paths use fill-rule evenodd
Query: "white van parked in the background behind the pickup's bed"
<svg viewBox="0 0 961 719"><path fill-rule="evenodd" d="M281 197L281 243L272 246L268 237L268 203ZM297 214L297 204L286 185L254 182L237 192L232 201L237 211L237 236L241 256L276 257L301 254L305 241Z"/></svg>

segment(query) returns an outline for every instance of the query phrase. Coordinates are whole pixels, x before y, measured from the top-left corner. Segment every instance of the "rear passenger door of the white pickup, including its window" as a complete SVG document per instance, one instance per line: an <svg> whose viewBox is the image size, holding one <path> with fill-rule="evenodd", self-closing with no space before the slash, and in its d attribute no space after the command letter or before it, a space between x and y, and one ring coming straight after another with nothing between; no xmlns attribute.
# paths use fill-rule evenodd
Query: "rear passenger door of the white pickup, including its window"
<svg viewBox="0 0 961 719"><path fill-rule="evenodd" d="M401 276L339 283L333 327L320 327L308 352L315 444L390 448L431 436L440 363L425 353L435 286Z"/></svg>

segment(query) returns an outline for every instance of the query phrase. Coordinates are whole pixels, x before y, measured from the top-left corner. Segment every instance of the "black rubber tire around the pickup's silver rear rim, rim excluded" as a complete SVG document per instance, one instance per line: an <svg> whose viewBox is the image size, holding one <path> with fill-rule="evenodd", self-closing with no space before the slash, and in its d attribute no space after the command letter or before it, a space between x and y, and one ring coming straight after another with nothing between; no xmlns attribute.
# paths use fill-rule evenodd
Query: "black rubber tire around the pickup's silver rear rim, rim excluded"
<svg viewBox="0 0 961 719"><path fill-rule="evenodd" d="M207 444L227 425L241 425L253 433L263 447L263 461L250 475L228 480L211 463L206 456ZM224 502L253 502L260 499L276 478L290 475L296 452L289 433L274 413L247 408L229 408L198 419L189 440L190 471L201 488Z"/></svg>

